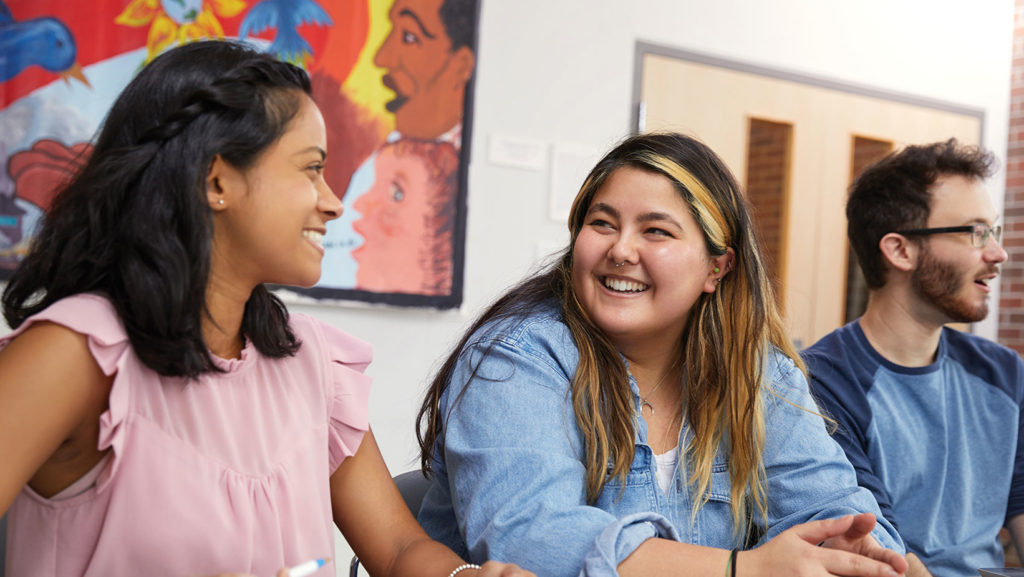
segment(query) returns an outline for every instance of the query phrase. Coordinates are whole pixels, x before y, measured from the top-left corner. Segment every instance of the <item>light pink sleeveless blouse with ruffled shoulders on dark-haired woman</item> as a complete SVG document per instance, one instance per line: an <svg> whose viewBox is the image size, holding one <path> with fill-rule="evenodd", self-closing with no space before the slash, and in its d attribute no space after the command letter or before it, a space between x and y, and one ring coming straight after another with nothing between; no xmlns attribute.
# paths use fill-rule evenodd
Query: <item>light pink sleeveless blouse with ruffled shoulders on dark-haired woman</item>
<svg viewBox="0 0 1024 577"><path fill-rule="evenodd" d="M250 342L241 359L214 359L225 373L189 381L146 368L113 305L93 294L52 304L0 347L40 321L88 336L115 375L99 427L99 449L113 452L83 493L18 494L7 575L269 577L334 557L329 478L369 426L368 343L292 315L294 357L267 359Z"/></svg>

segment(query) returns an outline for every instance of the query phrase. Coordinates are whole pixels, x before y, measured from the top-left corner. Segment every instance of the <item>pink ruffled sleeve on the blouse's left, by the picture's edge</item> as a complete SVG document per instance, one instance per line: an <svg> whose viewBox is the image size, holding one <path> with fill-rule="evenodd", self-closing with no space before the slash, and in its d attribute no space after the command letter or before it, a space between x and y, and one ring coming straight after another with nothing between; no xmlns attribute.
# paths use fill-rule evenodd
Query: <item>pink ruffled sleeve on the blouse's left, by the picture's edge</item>
<svg viewBox="0 0 1024 577"><path fill-rule="evenodd" d="M0 338L0 348L27 331L29 327L42 322L55 323L85 335L88 338L89 352L100 370L106 376L114 375L109 407L99 416L97 448L100 451L114 449L111 466L97 481L97 488L102 491L117 470L124 445L123 424L128 415L130 390L125 382L127 379L122 378L120 369L130 354L131 342L111 301L99 295L87 293L60 299L30 317L16 330Z"/></svg>

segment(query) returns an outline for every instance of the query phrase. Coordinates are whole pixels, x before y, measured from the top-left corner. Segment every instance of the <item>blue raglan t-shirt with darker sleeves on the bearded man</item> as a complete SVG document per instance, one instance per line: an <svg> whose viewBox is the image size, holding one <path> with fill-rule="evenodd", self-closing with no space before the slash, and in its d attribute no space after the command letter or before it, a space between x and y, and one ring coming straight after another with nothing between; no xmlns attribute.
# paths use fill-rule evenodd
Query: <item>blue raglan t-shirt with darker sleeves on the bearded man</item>
<svg viewBox="0 0 1024 577"><path fill-rule="evenodd" d="M936 577L1002 567L998 530L1024 512L1024 363L944 328L936 360L884 359L857 321L802 354L861 486Z"/></svg>

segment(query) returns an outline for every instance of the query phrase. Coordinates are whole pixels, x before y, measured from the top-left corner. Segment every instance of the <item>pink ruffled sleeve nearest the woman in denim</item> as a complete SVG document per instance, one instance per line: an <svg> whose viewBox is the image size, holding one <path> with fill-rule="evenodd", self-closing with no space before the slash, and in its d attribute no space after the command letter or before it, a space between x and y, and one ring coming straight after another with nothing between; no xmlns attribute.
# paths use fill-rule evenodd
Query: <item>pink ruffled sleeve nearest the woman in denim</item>
<svg viewBox="0 0 1024 577"><path fill-rule="evenodd" d="M341 461L355 454L362 437L370 429L370 383L364 374L373 359L369 342L316 323L327 345L328 369L328 446L331 472Z"/></svg>

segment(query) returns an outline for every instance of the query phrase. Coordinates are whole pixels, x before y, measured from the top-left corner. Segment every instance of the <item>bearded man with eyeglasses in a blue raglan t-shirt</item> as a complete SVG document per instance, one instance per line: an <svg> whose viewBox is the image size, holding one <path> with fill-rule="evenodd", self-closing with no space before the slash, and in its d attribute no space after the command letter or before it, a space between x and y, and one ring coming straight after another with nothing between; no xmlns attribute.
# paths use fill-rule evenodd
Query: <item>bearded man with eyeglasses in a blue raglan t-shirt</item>
<svg viewBox="0 0 1024 577"><path fill-rule="evenodd" d="M907 545L907 575L1002 567L1024 550L1024 363L947 323L988 315L1007 253L985 189L992 156L955 139L907 147L850 189L867 310L803 353L861 486Z"/></svg>

